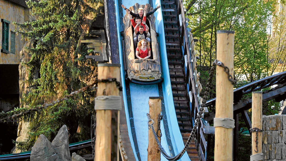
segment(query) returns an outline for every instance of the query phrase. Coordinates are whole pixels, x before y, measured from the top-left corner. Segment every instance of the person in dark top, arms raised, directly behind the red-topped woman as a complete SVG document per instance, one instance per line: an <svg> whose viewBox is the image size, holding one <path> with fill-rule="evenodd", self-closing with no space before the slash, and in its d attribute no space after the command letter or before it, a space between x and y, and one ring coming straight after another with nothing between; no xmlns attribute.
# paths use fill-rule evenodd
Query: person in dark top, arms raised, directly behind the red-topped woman
<svg viewBox="0 0 286 161"><path fill-rule="evenodd" d="M146 31L144 31L143 26L141 26L141 20L138 20L137 25L134 27L134 33L136 34L136 37L133 38L133 43L137 44L137 42L139 42L142 39L146 39L148 42L150 42L150 38L147 37L148 31L149 31L149 27L146 25L146 22L144 20L142 20L142 23L145 25L146 27ZM137 30L137 27L139 26L139 31Z"/></svg>

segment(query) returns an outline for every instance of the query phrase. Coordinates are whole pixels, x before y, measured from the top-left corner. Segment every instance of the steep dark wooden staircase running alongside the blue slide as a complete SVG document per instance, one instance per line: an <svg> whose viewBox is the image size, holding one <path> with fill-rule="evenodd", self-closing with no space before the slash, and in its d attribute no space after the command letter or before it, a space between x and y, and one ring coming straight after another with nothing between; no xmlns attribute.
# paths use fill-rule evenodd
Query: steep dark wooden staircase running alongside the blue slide
<svg viewBox="0 0 286 161"><path fill-rule="evenodd" d="M186 89L184 59L181 51L175 0L161 0L161 6L174 106L185 144L192 131L192 120ZM191 160L199 160L195 140L192 140L187 153Z"/></svg>

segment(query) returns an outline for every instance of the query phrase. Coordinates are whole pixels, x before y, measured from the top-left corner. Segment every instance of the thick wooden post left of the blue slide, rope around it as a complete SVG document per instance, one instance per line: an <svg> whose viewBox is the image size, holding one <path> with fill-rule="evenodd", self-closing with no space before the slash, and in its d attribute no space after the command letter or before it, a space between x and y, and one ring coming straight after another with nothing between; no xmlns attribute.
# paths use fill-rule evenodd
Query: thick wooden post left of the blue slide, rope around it
<svg viewBox="0 0 286 161"><path fill-rule="evenodd" d="M98 64L98 79L111 78L116 78L120 82L120 64ZM96 96L120 96L119 89L115 82L99 82ZM96 110L95 161L119 160L118 117L118 110Z"/></svg>

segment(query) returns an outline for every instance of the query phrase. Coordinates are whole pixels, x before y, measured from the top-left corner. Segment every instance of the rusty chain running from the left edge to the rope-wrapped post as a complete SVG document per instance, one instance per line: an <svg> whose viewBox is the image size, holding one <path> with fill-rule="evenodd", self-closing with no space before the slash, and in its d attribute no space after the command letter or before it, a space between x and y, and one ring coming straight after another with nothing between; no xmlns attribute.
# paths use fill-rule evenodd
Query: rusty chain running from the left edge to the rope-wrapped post
<svg viewBox="0 0 286 161"><path fill-rule="evenodd" d="M26 115L26 114L29 114L29 113L32 113L32 112L35 112L35 111L40 112L41 110L46 109L49 106L53 106L53 105L55 105L57 103L63 102L64 100L68 100L72 96L75 96L75 95L77 95L79 93L85 92L86 90L91 89L93 86L94 86L94 88L97 88L97 84L99 82L102 82L102 83L115 82L117 88L120 91L122 91L122 86L120 85L120 82L116 81L116 78L100 79L100 80L99 79L95 79L94 83L92 83L92 84L90 84L88 86L85 86L85 87L83 87L83 88L81 88L81 89L79 89L77 91L71 92L69 95L67 95L67 96L65 96L63 98L59 98L59 99L57 99L57 100L55 100L55 101L53 101L51 103L43 104L41 106L37 106L35 108L31 108L31 109L29 109L27 111L20 112L19 114L14 114L12 116L8 116L6 118L2 118L2 119L0 119L0 122L3 122L5 120L10 120L10 119L15 119L15 118L18 118L19 116L23 116L23 115Z"/></svg>

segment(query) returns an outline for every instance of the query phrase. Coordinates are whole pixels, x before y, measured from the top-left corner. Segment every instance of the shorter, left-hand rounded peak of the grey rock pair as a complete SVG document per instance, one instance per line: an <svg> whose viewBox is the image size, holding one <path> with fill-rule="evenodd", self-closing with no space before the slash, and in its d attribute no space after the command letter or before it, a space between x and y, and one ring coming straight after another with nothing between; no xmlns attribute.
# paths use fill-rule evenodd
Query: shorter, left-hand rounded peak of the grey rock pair
<svg viewBox="0 0 286 161"><path fill-rule="evenodd" d="M34 146L32 147L30 160L31 161L55 161L58 159L55 150L49 140L41 134Z"/></svg>

